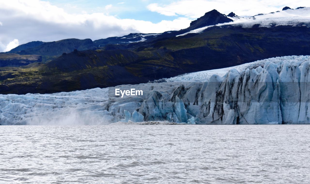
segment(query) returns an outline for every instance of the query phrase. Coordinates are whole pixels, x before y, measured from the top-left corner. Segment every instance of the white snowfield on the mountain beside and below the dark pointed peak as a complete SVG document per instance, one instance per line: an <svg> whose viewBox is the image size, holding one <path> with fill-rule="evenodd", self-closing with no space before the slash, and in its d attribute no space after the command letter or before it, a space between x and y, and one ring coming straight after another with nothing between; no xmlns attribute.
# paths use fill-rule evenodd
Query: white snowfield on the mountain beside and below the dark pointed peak
<svg viewBox="0 0 310 184"><path fill-rule="evenodd" d="M225 15L226 16L226 15ZM221 22L219 24L206 25L204 27L192 29L189 32L177 35L184 36L188 33L201 33L205 29L213 26L241 26L243 28L274 27L279 25L307 26L310 27L310 7L299 7L296 9L283 8L282 11L268 14L258 14L251 17L239 17L235 13L229 13L226 18L232 21Z"/></svg>

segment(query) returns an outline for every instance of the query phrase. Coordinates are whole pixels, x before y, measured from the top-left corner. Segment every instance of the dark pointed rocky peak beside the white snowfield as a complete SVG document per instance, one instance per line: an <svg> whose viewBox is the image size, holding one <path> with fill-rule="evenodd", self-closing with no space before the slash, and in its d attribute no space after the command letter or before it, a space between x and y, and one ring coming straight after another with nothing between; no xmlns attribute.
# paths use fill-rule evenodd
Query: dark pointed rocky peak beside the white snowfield
<svg viewBox="0 0 310 184"><path fill-rule="evenodd" d="M232 21L233 21L232 19L229 19L228 17L226 17L226 15L221 14L219 11L214 9L209 12L206 12L205 15L198 18L197 20L192 21L189 28L197 29L197 28L202 28L205 26L232 22Z"/></svg>

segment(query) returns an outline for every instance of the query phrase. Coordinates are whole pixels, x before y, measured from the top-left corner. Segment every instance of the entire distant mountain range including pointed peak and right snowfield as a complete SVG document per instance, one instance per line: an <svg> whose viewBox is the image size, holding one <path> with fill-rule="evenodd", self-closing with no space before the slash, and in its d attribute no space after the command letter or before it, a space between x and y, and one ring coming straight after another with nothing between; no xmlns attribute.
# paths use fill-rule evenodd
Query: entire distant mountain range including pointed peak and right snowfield
<svg viewBox="0 0 310 184"><path fill-rule="evenodd" d="M159 39L169 39L174 36L183 36L189 33L201 33L212 26L241 26L241 27L274 27L277 25L306 26L310 24L310 10L307 7L298 7L295 10L284 7L284 11L269 14L258 14L251 17L239 17L233 12L228 15L219 13L217 10L207 12L202 17L191 22L186 29L179 31L167 31L163 33L131 33L120 37L109 37L91 41L90 39L65 39L55 42L29 42L18 46L9 53L38 54L43 56L44 61L50 61L50 57L60 56L62 53L78 50L95 49L132 49L135 43L152 42ZM143 45L143 44L142 44ZM49 57L47 57L49 56ZM47 57L47 59L46 59Z"/></svg>

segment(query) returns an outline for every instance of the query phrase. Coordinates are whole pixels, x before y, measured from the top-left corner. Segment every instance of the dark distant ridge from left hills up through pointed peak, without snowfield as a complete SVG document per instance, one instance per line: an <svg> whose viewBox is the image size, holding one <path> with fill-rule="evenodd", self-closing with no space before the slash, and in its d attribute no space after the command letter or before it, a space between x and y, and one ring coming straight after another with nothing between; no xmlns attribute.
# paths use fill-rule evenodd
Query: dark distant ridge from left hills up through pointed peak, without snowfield
<svg viewBox="0 0 310 184"><path fill-rule="evenodd" d="M126 48L124 45L128 45L136 42L143 41L154 41L157 39L167 38L176 36L188 30L200 28L208 25L215 25L219 23L231 22L232 19L227 18L226 15L219 13L217 10L212 10L207 12L201 18L193 21L190 26L184 30L180 31L167 31L163 33L131 33L129 35L120 37L108 37L104 39L99 39L91 41L90 39L78 40L78 39L65 39L54 42L29 42L16 47L9 51L9 53L18 54L39 54L42 56L60 56L62 53L73 52L74 49L77 50L93 50L97 48L103 48L108 45L108 49L111 49L111 45L121 45L121 48ZM44 43L44 44L43 44ZM123 46L122 46L123 45ZM115 46L113 46L115 48ZM117 47L118 49L119 47Z"/></svg>

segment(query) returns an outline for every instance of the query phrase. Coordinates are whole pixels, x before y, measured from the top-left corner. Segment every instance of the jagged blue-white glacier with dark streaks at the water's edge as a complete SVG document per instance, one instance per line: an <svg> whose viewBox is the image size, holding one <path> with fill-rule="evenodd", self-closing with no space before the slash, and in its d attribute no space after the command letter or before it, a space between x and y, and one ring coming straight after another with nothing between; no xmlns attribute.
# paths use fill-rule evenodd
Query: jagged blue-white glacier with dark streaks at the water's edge
<svg viewBox="0 0 310 184"><path fill-rule="evenodd" d="M136 85L0 95L0 124L308 124L309 102L310 56L285 56Z"/></svg>

